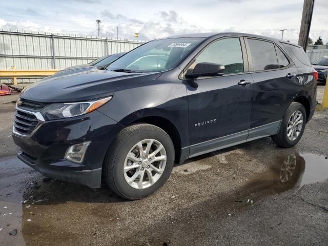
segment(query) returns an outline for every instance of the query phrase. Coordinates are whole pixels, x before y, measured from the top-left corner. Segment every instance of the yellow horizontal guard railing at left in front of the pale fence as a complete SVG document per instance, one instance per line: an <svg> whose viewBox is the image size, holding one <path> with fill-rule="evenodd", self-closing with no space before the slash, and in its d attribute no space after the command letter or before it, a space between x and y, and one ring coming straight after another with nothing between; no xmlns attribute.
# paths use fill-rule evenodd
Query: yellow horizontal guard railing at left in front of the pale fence
<svg viewBox="0 0 328 246"><path fill-rule="evenodd" d="M39 76L47 77L53 75L59 70L56 69L47 69L47 70L16 70L15 66L11 66L11 70L0 70L1 77L12 77L14 85L17 85L17 77L30 77L30 76Z"/></svg>

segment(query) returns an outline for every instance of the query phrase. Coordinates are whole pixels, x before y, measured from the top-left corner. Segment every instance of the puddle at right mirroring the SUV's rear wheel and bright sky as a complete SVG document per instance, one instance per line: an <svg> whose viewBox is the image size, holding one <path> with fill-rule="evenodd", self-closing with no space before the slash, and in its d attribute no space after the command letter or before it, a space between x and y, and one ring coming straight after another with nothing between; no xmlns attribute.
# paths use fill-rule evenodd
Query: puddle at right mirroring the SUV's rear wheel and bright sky
<svg viewBox="0 0 328 246"><path fill-rule="evenodd" d="M324 181L327 178L327 157L296 153L278 158L269 172L256 175L255 178L248 181L245 189L256 192L272 188L275 192L283 192L308 183Z"/></svg>

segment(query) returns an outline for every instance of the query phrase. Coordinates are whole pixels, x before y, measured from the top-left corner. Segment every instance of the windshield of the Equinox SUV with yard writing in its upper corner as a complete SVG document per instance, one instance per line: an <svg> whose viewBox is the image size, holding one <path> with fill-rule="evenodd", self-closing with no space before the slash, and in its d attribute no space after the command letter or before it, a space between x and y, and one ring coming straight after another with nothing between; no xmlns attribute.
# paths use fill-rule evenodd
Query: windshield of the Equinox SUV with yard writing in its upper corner
<svg viewBox="0 0 328 246"><path fill-rule="evenodd" d="M161 72L173 68L204 38L168 38L151 41L117 59L107 70Z"/></svg>

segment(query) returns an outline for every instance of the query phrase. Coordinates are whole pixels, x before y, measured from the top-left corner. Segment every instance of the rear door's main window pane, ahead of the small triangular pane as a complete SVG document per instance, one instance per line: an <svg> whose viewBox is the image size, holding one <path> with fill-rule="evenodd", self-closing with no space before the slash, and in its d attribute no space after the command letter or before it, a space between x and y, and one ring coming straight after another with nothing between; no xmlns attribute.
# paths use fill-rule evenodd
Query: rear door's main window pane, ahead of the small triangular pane
<svg viewBox="0 0 328 246"><path fill-rule="evenodd" d="M279 68L274 44L258 39L248 38L247 40L251 51L254 71Z"/></svg>

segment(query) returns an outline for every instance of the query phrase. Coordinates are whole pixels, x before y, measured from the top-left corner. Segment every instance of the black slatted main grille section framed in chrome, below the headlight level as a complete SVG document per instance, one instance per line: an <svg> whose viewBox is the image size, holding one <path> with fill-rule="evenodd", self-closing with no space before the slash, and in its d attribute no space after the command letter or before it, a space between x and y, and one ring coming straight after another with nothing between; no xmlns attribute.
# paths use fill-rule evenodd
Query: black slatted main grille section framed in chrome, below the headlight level
<svg viewBox="0 0 328 246"><path fill-rule="evenodd" d="M14 129L17 133L28 136L36 128L38 119L34 114L16 109L14 119Z"/></svg>

